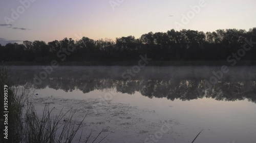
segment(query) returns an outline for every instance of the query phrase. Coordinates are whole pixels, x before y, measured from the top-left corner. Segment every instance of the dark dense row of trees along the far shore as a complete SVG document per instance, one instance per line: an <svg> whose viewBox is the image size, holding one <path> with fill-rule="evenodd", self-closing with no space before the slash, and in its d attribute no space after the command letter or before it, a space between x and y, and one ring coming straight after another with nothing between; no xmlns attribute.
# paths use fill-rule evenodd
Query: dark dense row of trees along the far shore
<svg viewBox="0 0 256 143"><path fill-rule="evenodd" d="M138 39L134 36L121 37L115 41L88 37L77 41L64 38L48 43L23 41L23 44L0 45L0 61L135 61L139 55L145 54L153 61L226 61L246 43L248 50L241 60L255 61L254 41L256 27L249 31L227 29L207 33L170 30L166 33L150 32Z"/></svg>

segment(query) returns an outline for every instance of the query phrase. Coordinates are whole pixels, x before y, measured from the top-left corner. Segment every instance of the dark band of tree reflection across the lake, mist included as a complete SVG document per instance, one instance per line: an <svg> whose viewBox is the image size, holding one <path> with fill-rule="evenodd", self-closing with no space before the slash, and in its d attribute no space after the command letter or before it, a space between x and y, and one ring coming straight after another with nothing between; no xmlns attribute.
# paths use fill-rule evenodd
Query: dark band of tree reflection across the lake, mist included
<svg viewBox="0 0 256 143"><path fill-rule="evenodd" d="M164 72L159 73L159 70ZM256 103L256 97L254 96L256 79L254 77L245 77L246 74L241 74L241 72L230 72L218 83L212 85L212 88L207 89L205 95L200 95L198 88L203 88L205 79L212 76L211 74L202 75L201 77L195 76L195 73L179 76L180 69L179 72L150 69L150 72L142 71L140 75L132 78L132 80L125 80L120 76L124 70L113 71L111 69L108 70L109 72L105 72L102 69L55 70L41 84L30 84L34 82L33 75L38 75L40 71L42 70L11 70L11 74L14 80L19 79L19 85L29 85L36 89L44 89L49 86L49 88L55 90L60 89L65 92L80 90L83 93L89 93L94 90L116 89L117 92L127 94L140 92L141 95L149 98L192 100L207 97L225 101L248 99ZM207 71L204 73L207 73ZM182 72L180 74L184 75Z"/></svg>

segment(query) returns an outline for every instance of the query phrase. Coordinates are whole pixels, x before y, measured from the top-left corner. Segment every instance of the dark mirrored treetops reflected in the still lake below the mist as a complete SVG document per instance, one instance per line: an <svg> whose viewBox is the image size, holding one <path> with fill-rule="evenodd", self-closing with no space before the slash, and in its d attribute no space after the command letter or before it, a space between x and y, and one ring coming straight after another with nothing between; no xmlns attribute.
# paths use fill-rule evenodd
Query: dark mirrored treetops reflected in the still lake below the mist
<svg viewBox="0 0 256 143"><path fill-rule="evenodd" d="M33 73L31 73L33 72ZM20 85L33 83L33 75L38 71L23 71L22 76L12 72L14 80L19 78ZM87 74L86 74L87 75ZM192 100L198 98L213 98L216 100L244 100L256 103L256 81L250 80L223 80L219 81L212 88L206 89L205 95L198 93L198 88L204 86L202 78L150 78L144 79L135 78L134 80L123 80L121 78L110 78L104 75L85 76L84 72L74 74L74 71L65 71L63 73L52 73L49 78L43 80L41 84L33 85L35 89L44 89L47 86L55 90L63 90L72 92L80 90L83 93L89 93L94 90L116 89L117 92L134 94L140 92L141 95L149 98L167 98L169 100L181 99ZM254 81L253 81L254 80Z"/></svg>

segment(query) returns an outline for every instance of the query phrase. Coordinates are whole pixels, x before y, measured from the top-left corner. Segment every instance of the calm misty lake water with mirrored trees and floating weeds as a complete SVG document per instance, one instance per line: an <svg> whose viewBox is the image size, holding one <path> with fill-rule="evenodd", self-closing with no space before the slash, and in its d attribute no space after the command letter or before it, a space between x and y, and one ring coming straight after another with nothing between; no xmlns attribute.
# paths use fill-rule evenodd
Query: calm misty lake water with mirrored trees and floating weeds
<svg viewBox="0 0 256 143"><path fill-rule="evenodd" d="M90 112L86 128L104 129L103 142L145 142L167 122L167 133L147 141L191 142L202 129L195 142L256 140L256 67L229 67L210 88L220 67L145 67L131 80L122 73L132 67L58 67L37 84L41 66L10 68L19 85L36 89L38 110L44 100L74 107L77 119Z"/></svg>

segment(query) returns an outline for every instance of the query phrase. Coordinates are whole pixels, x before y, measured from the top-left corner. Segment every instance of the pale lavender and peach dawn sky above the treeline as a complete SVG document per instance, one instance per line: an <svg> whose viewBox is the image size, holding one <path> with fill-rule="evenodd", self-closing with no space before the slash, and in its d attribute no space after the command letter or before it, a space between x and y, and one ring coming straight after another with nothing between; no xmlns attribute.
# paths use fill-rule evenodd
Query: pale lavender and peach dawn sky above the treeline
<svg viewBox="0 0 256 143"><path fill-rule="evenodd" d="M183 28L248 31L256 27L255 6L255 0L5 0L0 2L0 44L83 36L139 38Z"/></svg>

